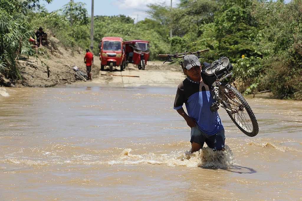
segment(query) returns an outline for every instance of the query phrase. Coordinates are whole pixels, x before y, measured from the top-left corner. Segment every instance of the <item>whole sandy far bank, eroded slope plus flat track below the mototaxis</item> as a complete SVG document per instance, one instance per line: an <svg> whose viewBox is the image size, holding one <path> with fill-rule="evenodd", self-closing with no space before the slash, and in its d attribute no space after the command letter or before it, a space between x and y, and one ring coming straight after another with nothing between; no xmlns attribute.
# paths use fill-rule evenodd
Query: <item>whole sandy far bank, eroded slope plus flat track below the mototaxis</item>
<svg viewBox="0 0 302 201"><path fill-rule="evenodd" d="M30 57L19 61L19 72L23 77L17 82L17 86L50 87L50 86L166 86L177 87L185 79L185 75L179 65L163 64L162 61L147 61L145 70L139 70L136 65L128 64L124 71L120 67L113 72L105 67L100 71L101 64L98 56L94 55L92 67L93 81L82 81L76 78L75 72L70 71L76 64L85 73L84 63L85 49L69 49L59 45L58 39L49 38L49 44L45 45L47 54L40 59ZM107 75L112 74L112 75Z"/></svg>

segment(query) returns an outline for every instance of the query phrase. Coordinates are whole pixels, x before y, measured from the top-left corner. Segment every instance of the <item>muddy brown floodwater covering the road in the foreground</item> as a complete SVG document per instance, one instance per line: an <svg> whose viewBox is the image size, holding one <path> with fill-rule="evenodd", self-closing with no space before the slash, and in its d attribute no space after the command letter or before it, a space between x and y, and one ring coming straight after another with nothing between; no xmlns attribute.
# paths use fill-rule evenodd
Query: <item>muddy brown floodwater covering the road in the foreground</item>
<svg viewBox="0 0 302 201"><path fill-rule="evenodd" d="M302 102L226 112L226 151L189 154L176 88L0 88L0 200L302 200Z"/></svg>

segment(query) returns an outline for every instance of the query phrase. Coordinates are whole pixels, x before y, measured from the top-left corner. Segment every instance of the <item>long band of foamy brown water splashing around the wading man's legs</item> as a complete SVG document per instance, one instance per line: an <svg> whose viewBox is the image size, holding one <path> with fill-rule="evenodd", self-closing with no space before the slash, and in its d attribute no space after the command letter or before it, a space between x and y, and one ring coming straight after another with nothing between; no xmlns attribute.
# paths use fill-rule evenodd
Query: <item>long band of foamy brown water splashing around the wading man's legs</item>
<svg viewBox="0 0 302 201"><path fill-rule="evenodd" d="M23 150L21 150L23 152ZM42 158L41 158L42 157ZM151 164L164 166L186 166L201 168L232 168L235 165L235 159L229 146L225 146L225 151L213 151L208 147L191 153L188 149L176 150L168 154L159 154L158 152L146 152L143 154L133 154L133 150L124 149L118 155L100 156L98 154L79 154L61 156L52 151L43 150L37 152L36 157L26 157L23 155L6 155L6 162L11 162L24 166L41 166L55 164L104 164L108 166L115 165L137 165Z"/></svg>

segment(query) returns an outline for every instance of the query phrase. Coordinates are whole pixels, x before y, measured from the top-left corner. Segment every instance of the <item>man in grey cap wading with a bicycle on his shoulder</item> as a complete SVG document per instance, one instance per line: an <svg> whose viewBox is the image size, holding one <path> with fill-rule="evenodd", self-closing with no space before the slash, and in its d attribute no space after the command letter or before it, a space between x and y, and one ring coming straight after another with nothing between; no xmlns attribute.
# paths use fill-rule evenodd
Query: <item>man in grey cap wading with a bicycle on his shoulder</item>
<svg viewBox="0 0 302 201"><path fill-rule="evenodd" d="M214 150L224 151L223 125L217 111L210 110L216 101L201 78L199 59L195 55L186 55L183 62L188 78L178 85L174 109L191 127L191 153L202 149L204 143ZM188 114L182 108L184 103Z"/></svg>

